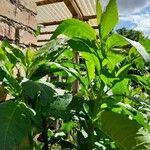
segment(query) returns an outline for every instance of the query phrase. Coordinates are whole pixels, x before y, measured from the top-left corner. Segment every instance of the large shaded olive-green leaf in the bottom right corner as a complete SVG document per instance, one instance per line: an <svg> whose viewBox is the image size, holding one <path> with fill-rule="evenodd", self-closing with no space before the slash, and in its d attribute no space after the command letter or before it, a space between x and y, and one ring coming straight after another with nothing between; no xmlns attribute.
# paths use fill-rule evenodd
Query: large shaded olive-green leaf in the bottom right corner
<svg viewBox="0 0 150 150"><path fill-rule="evenodd" d="M121 150L149 150L150 133L136 121L111 111L103 111L101 130L112 138Z"/></svg>

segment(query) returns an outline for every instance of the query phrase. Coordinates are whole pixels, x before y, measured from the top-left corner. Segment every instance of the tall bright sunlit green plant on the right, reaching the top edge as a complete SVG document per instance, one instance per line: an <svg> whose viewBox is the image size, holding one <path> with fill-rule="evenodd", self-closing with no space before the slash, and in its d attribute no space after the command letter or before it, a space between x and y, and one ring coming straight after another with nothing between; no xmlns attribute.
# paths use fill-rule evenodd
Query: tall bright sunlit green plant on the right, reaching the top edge
<svg viewBox="0 0 150 150"><path fill-rule="evenodd" d="M99 34L69 19L51 37L68 37L68 48L82 58L79 65L60 62L79 73L80 91L69 106L79 123L77 149L149 149L150 56L140 43L112 32L118 22L115 0L104 11L97 0L96 11Z"/></svg>

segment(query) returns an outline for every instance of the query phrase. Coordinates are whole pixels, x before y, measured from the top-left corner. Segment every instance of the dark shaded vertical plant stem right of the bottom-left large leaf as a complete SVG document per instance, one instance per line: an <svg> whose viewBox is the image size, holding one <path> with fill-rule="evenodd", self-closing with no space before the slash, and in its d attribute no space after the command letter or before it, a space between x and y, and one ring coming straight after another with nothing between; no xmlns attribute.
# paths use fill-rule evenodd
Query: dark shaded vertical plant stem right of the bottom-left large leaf
<svg viewBox="0 0 150 150"><path fill-rule="evenodd" d="M44 141L43 150L48 150L47 120L45 116L42 117L42 127L43 127L42 137Z"/></svg>

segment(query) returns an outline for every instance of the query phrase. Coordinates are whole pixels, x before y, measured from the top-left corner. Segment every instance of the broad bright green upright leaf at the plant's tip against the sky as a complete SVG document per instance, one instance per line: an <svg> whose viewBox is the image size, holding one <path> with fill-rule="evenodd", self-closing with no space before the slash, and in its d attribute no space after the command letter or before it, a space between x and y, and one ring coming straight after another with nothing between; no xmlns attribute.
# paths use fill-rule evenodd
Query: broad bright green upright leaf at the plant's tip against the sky
<svg viewBox="0 0 150 150"><path fill-rule="evenodd" d="M116 0L110 0L101 19L101 37L107 36L118 23Z"/></svg>

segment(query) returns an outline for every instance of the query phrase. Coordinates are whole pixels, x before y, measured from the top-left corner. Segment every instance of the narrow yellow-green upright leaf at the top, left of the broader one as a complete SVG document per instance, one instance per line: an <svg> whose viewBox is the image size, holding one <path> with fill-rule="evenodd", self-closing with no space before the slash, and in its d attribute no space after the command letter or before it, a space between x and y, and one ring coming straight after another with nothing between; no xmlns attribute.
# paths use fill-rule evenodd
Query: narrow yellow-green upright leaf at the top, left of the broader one
<svg viewBox="0 0 150 150"><path fill-rule="evenodd" d="M96 0L96 15L97 15L97 24L100 26L101 17L102 17L102 5L100 0Z"/></svg>

